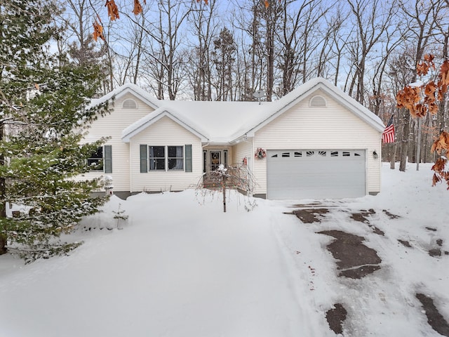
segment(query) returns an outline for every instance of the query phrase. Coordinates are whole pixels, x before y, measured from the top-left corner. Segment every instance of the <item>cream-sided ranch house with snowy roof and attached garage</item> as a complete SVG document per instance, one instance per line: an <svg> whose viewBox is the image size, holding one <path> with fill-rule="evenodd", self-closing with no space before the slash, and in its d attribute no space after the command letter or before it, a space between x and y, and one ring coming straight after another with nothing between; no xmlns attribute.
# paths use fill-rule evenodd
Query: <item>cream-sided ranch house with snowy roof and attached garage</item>
<svg viewBox="0 0 449 337"><path fill-rule="evenodd" d="M157 100L126 84L114 110L94 121L86 141L109 136L103 158L114 194L185 190L220 164L247 162L255 197L316 199L380 192L384 124L326 79L275 102ZM258 158L257 149L265 157ZM97 157L97 158L95 158Z"/></svg>

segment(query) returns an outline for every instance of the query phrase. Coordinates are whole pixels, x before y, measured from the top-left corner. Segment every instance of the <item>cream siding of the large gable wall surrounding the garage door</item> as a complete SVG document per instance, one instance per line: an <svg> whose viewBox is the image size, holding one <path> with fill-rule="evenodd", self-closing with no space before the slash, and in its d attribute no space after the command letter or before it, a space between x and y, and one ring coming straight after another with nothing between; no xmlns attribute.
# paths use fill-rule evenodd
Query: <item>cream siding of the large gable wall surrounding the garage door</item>
<svg viewBox="0 0 449 337"><path fill-rule="evenodd" d="M379 192L381 162L380 158L373 158L373 151L380 154L380 132L326 93L316 91L312 95L321 95L327 106L310 107L310 97L305 98L257 131L253 148L366 150L366 192ZM266 194L266 158L254 160L253 172L257 180L255 194Z"/></svg>

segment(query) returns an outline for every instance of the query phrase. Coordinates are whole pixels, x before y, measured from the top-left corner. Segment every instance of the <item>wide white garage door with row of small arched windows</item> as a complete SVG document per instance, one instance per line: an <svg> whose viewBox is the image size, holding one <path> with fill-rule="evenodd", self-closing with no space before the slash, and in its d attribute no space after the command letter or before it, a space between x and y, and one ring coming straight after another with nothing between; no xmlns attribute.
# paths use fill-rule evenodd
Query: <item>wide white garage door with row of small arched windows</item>
<svg viewBox="0 0 449 337"><path fill-rule="evenodd" d="M269 150L268 199L365 195L365 150Z"/></svg>

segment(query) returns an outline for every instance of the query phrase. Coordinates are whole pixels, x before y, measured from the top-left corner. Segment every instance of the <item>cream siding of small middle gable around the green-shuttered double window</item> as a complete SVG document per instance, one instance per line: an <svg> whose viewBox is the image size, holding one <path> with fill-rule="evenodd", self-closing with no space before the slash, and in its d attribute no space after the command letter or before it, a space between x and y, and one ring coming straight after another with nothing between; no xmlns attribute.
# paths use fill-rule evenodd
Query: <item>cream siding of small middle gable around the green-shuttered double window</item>
<svg viewBox="0 0 449 337"><path fill-rule="evenodd" d="M185 190L196 185L203 173L201 140L168 117L163 117L130 139L130 192L160 192ZM192 172L182 170L140 172L140 145L192 145ZM167 155L167 154L166 154Z"/></svg>

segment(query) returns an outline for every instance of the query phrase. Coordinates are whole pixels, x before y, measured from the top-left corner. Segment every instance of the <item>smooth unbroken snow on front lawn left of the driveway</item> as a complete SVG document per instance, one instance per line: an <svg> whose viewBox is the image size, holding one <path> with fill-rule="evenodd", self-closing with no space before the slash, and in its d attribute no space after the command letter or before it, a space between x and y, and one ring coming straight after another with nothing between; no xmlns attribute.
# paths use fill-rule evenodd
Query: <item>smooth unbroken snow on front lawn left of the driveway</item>
<svg viewBox="0 0 449 337"><path fill-rule="evenodd" d="M85 232L66 258L17 267L0 279L0 336L323 336L322 313L273 225L279 213L229 201L201 205L194 192L114 199L123 230ZM108 214L109 213L109 214ZM110 224L109 224L110 225ZM20 263L20 261L16 261ZM294 267L293 267L294 268ZM305 303L305 302L303 302ZM3 334L2 334L3 333Z"/></svg>

